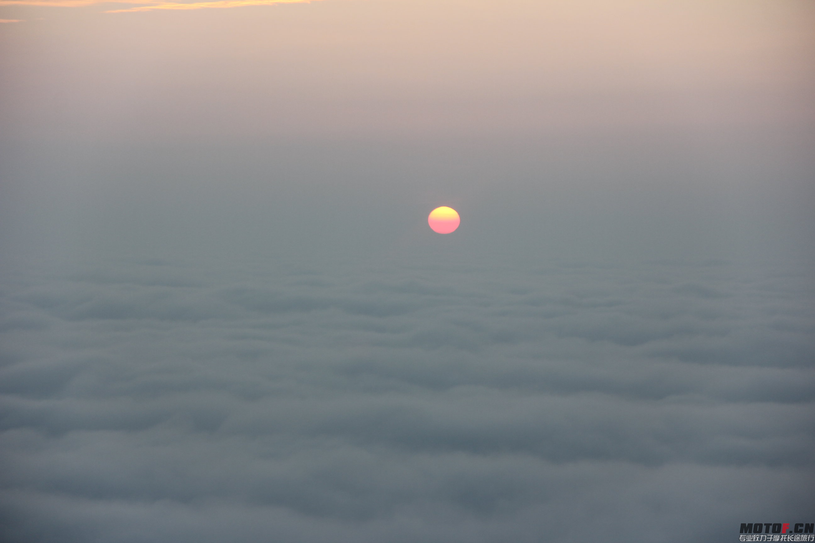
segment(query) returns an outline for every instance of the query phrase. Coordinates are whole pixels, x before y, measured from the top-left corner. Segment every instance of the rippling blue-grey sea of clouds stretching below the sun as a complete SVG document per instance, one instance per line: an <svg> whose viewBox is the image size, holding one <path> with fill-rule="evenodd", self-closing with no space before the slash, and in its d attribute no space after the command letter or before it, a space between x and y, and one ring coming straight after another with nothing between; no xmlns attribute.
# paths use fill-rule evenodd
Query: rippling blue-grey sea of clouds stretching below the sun
<svg viewBox="0 0 815 543"><path fill-rule="evenodd" d="M810 520L810 274L11 266L3 541L654 543Z"/></svg>

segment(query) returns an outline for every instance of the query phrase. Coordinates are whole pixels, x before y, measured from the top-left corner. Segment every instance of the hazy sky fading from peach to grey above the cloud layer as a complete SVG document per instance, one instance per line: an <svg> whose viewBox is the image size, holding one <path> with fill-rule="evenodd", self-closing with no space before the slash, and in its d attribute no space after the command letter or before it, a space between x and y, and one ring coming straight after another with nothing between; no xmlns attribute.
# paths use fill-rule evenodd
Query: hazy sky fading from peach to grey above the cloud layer
<svg viewBox="0 0 815 543"><path fill-rule="evenodd" d="M29 246L369 251L451 203L518 251L810 245L811 2L15 2L3 230Z"/></svg>

